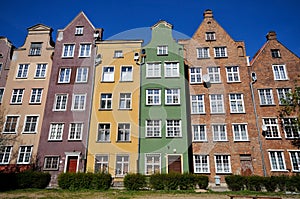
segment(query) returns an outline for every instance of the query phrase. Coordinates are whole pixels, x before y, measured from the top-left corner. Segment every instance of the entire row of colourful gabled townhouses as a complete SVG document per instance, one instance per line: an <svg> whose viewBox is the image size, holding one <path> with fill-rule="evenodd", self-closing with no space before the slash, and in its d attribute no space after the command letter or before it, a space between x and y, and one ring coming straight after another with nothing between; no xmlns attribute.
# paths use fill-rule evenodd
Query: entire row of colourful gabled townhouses
<svg viewBox="0 0 300 199"><path fill-rule="evenodd" d="M295 118L280 119L300 60L267 34L251 61L211 10L190 39L159 21L151 41L103 40L79 13L64 29L28 28L16 48L0 38L0 169L191 172L225 176L300 172ZM281 127L283 123L283 128Z"/></svg>

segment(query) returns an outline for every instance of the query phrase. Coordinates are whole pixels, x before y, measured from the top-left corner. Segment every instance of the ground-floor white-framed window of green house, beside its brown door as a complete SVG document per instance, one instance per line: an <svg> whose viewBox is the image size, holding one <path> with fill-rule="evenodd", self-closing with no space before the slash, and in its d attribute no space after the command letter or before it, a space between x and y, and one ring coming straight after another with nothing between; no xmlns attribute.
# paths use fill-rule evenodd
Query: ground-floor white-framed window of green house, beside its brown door
<svg viewBox="0 0 300 199"><path fill-rule="evenodd" d="M145 154L145 174L152 175L160 173L161 155L148 153Z"/></svg>

